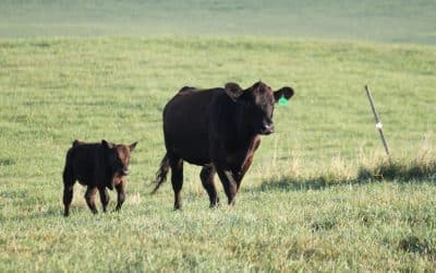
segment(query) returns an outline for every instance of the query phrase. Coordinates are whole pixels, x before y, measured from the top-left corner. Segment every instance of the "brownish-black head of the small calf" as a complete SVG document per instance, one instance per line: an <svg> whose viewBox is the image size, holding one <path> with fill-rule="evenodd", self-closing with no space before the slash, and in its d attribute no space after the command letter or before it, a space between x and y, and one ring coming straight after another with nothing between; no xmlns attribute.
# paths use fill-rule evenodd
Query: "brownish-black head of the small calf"
<svg viewBox="0 0 436 273"><path fill-rule="evenodd" d="M114 144L101 141L101 144L107 152L109 168L116 177L129 175L130 154L135 150L137 142L130 145Z"/></svg>

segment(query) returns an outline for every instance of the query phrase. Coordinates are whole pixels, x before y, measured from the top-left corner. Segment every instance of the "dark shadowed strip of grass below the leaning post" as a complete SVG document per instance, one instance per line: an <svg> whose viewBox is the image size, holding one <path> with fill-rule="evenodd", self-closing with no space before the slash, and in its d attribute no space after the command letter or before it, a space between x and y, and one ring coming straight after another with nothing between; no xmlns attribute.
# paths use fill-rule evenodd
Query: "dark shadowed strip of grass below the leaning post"
<svg viewBox="0 0 436 273"><path fill-rule="evenodd" d="M363 185L382 180L436 183L436 159L414 159L410 163L386 159L380 161L373 166L360 167L354 176L327 171L327 174L320 174L313 177L280 177L277 179L264 180L263 183L254 190L322 190L332 186Z"/></svg>

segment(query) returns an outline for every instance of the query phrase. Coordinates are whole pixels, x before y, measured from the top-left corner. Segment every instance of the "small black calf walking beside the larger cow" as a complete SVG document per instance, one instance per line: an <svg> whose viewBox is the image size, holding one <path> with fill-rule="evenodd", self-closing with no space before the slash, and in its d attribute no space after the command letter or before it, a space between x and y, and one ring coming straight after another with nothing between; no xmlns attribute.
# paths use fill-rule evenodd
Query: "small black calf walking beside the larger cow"
<svg viewBox="0 0 436 273"><path fill-rule="evenodd" d="M109 193L106 188L117 189L118 203L116 211L121 209L125 200L125 176L129 175L130 154L137 142L131 145L113 144L106 140L101 143L85 143L75 140L66 153L63 169L63 205L64 216L70 214L73 200L73 186L76 180L87 186L86 204L93 213L97 213L95 195L100 193L102 210L109 203Z"/></svg>

